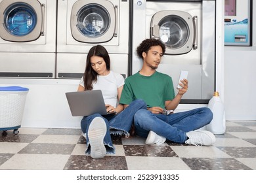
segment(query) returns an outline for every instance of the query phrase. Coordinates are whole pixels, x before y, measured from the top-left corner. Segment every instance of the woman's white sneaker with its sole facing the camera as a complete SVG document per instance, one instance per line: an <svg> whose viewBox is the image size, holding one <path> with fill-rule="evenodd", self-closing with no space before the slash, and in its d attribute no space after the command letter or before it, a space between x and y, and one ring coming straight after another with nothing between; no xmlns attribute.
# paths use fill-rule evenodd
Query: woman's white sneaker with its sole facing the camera
<svg viewBox="0 0 256 183"><path fill-rule="evenodd" d="M100 117L94 118L88 129L88 139L91 145L92 158L103 158L106 155L106 148L103 143L105 135L105 121Z"/></svg>

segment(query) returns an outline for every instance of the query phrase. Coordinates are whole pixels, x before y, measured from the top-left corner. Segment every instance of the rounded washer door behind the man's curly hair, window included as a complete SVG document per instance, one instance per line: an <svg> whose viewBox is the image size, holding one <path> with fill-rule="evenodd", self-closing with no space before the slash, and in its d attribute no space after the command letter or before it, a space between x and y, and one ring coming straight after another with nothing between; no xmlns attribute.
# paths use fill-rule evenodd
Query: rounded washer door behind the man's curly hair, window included
<svg viewBox="0 0 256 183"><path fill-rule="evenodd" d="M165 54L186 54L193 48L193 18L177 10L156 12L150 24L150 37L165 44Z"/></svg>

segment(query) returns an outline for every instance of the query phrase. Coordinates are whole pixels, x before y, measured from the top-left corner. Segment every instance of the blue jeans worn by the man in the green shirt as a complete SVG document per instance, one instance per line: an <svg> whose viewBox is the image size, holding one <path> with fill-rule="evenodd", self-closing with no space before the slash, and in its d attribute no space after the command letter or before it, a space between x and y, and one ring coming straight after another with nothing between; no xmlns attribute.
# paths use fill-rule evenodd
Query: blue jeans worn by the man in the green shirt
<svg viewBox="0 0 256 183"><path fill-rule="evenodd" d="M135 131L140 137L147 137L149 131L165 137L169 141L184 143L186 132L207 125L213 119L213 113L207 107L196 108L185 112L169 114L152 114L149 110L136 112Z"/></svg>

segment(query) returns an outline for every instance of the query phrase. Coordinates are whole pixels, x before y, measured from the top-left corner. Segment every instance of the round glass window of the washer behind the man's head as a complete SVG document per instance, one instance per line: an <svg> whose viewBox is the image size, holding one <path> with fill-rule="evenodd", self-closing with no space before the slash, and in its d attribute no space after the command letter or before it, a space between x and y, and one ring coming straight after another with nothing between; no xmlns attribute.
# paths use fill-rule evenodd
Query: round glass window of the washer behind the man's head
<svg viewBox="0 0 256 183"><path fill-rule="evenodd" d="M160 40L168 48L181 48L188 41L188 24L180 16L165 16L159 26Z"/></svg>

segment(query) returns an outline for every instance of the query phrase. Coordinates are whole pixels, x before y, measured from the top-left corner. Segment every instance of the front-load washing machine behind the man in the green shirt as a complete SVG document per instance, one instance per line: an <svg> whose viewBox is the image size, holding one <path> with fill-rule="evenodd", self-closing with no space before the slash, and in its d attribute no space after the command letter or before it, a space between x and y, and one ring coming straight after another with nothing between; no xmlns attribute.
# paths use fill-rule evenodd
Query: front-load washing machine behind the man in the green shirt
<svg viewBox="0 0 256 183"><path fill-rule="evenodd" d="M158 71L175 87L181 71L188 71L182 103L207 103L215 90L215 1L134 1L132 74L142 67L136 48L146 38L165 44Z"/></svg>

